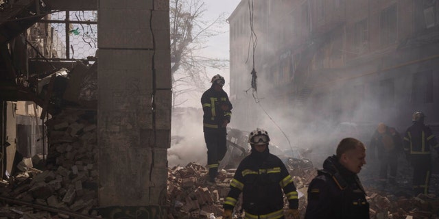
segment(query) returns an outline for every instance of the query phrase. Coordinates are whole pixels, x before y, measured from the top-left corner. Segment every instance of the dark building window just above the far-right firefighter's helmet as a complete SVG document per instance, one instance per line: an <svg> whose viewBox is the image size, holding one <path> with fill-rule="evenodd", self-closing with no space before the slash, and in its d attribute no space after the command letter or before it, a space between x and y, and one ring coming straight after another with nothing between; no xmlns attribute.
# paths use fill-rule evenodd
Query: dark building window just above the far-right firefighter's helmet
<svg viewBox="0 0 439 219"><path fill-rule="evenodd" d="M412 81L412 103L433 103L433 73L416 73Z"/></svg>

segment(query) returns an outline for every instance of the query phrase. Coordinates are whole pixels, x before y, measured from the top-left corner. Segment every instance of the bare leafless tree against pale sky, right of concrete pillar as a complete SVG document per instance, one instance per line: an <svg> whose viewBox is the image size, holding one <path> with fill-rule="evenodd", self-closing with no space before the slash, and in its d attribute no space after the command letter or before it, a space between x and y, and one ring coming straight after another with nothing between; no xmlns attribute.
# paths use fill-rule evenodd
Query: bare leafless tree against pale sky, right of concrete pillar
<svg viewBox="0 0 439 219"><path fill-rule="evenodd" d="M187 101L179 98L183 94L203 92L207 68L228 68L228 60L198 55L209 38L222 34L219 27L226 24L226 16L223 13L214 21L202 20L206 11L203 0L171 0L169 5L171 80L176 107Z"/></svg>

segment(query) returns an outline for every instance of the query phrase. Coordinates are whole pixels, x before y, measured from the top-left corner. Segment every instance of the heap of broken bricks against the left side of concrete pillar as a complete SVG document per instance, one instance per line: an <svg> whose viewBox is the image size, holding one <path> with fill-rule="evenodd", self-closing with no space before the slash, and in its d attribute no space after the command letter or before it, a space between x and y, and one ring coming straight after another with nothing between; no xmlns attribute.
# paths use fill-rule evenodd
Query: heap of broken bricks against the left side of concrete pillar
<svg viewBox="0 0 439 219"><path fill-rule="evenodd" d="M45 170L28 168L11 177L1 196L88 215L97 206L95 112L64 110L45 124L49 143Z"/></svg>

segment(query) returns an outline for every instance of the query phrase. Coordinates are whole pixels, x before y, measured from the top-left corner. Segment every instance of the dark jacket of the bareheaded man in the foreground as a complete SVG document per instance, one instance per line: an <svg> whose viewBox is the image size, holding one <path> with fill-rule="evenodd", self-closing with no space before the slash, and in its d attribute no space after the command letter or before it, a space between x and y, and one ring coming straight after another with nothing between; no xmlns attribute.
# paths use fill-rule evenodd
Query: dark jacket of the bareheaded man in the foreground
<svg viewBox="0 0 439 219"><path fill-rule="evenodd" d="M335 155L323 163L308 188L305 219L369 219L369 203L357 174L344 168Z"/></svg>

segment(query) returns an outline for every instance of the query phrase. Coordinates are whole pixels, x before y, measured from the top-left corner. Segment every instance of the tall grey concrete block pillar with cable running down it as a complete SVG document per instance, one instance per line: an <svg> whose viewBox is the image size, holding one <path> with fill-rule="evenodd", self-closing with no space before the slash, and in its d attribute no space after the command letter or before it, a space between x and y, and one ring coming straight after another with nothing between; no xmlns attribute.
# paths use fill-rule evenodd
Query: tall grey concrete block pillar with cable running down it
<svg viewBox="0 0 439 219"><path fill-rule="evenodd" d="M99 206L163 206L171 133L169 0L98 5Z"/></svg>

